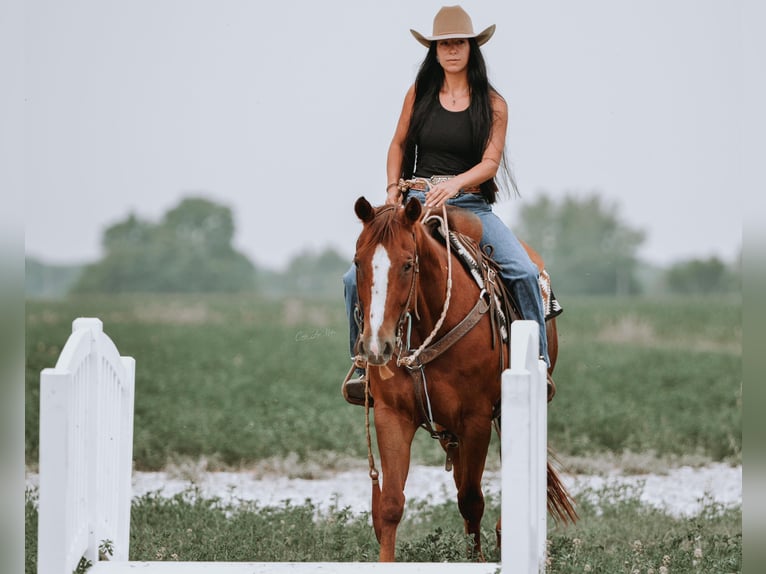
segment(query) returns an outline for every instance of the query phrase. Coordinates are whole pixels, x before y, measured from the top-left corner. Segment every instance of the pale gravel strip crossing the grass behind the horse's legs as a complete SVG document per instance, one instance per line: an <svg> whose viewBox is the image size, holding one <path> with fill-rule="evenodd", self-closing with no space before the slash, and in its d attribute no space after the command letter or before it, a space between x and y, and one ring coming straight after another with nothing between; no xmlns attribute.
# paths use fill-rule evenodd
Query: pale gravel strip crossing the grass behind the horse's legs
<svg viewBox="0 0 766 574"><path fill-rule="evenodd" d="M562 478L576 498L597 500L598 493L605 489L619 490L639 496L643 504L675 516L695 516L710 503L725 507L742 504L742 466L722 463L699 468L669 468L662 474L633 475L615 470L605 475L565 474ZM26 484L28 488L36 488L38 475L28 471ZM254 501L262 506L281 506L285 502L303 504L311 500L318 511L336 506L347 507L353 513L369 512L369 485L366 468L333 472L311 480L258 476L250 471L202 472L194 478L175 478L168 472L133 473L134 497L147 493L171 497L194 489L202 498L219 498L224 502ZM483 490L489 496L500 494L499 472L485 472ZM410 504L415 500L432 504L454 501L452 474L443 467L413 465L405 495Z"/></svg>

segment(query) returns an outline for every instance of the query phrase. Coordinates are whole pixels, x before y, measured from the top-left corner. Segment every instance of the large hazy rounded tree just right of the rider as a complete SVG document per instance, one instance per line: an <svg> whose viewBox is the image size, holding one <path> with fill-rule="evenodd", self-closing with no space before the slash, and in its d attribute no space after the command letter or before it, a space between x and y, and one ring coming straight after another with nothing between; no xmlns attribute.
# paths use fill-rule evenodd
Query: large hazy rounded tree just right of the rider
<svg viewBox="0 0 766 574"><path fill-rule="evenodd" d="M645 234L620 221L616 205L595 193L560 203L541 195L522 207L516 233L543 256L559 296L639 291L636 252Z"/></svg>

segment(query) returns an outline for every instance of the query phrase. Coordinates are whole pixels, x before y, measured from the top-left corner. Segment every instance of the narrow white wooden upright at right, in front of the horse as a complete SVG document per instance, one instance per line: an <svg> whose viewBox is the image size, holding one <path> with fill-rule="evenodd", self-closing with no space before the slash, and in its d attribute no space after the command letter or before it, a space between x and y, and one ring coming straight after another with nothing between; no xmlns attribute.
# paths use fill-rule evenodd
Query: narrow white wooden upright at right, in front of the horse
<svg viewBox="0 0 766 574"><path fill-rule="evenodd" d="M538 350L538 324L514 321L502 378L503 574L545 571L547 395Z"/></svg>

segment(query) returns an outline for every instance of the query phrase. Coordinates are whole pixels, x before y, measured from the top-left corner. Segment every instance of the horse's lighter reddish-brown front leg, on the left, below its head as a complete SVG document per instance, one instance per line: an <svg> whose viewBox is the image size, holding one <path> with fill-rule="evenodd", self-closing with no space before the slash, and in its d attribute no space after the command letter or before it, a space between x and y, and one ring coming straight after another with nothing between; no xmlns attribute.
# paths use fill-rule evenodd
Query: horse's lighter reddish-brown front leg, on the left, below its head
<svg viewBox="0 0 766 574"><path fill-rule="evenodd" d="M378 439L383 489L373 504L372 519L380 542L380 561L393 562L396 529L404 513L404 484L410 469L410 449L417 425L401 413L375 405L375 434Z"/></svg>

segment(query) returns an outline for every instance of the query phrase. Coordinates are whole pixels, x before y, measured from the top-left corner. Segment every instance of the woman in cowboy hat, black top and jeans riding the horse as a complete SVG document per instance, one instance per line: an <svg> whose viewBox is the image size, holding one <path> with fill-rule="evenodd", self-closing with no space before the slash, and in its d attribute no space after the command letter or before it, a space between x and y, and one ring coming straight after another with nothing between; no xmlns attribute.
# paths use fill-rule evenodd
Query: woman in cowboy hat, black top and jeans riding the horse
<svg viewBox="0 0 766 574"><path fill-rule="evenodd" d="M451 6L436 14L431 36L410 31L428 52L404 98L388 150L386 203L400 206L400 180L414 178L406 196L417 198L426 208L440 210L447 203L478 215L483 225L481 246L491 250L522 318L540 325L540 353L550 367L538 268L492 211L498 173L507 176L517 193L504 151L508 107L488 81L479 48L492 37L495 26L474 33L470 16ZM359 333L356 272L352 265L343 277L352 357ZM355 374L346 381L344 396L362 404L364 373L357 369ZM549 388L554 388L550 377Z"/></svg>

